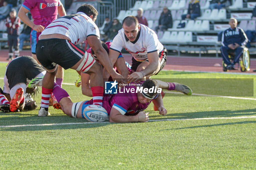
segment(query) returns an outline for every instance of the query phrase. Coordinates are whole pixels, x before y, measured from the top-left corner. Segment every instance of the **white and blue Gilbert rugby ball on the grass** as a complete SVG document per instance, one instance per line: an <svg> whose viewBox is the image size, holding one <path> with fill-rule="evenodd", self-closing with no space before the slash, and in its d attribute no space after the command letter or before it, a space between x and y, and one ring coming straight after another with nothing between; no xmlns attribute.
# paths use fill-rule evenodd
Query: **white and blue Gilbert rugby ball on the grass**
<svg viewBox="0 0 256 170"><path fill-rule="evenodd" d="M108 117L108 113L102 106L93 104L84 108L83 116L89 122L104 122Z"/></svg>

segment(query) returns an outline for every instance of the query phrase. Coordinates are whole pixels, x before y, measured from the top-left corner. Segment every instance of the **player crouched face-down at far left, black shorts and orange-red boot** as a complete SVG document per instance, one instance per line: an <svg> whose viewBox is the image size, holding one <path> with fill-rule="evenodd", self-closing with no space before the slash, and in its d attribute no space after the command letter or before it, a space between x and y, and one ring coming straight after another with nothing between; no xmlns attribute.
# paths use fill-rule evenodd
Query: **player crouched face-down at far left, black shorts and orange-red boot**
<svg viewBox="0 0 256 170"><path fill-rule="evenodd" d="M0 106L1 110L5 112L22 110L25 106L24 97L28 82L36 77L44 76L45 73L46 71L33 57L22 56L10 61L4 75L3 94L6 98L0 94L0 104L5 104ZM8 100L10 102L7 102Z"/></svg>

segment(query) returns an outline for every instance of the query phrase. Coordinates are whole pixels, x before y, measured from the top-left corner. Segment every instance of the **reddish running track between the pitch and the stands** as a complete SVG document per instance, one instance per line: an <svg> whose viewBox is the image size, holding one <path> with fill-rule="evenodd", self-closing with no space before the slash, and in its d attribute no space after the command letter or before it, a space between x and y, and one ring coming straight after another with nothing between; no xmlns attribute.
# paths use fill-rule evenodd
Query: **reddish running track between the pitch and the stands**
<svg viewBox="0 0 256 170"><path fill-rule="evenodd" d="M30 50L23 50L20 52L20 56L31 56ZM132 63L132 57L130 54L123 54L125 61ZM8 62L8 50L0 51L0 62ZM256 59L251 59L250 73L256 69ZM237 68L237 65L236 65ZM216 57L178 57L173 55L167 56L167 62L164 70L180 70L180 71L222 71L222 58ZM230 72L241 72L239 70L229 70ZM256 74L256 72L255 72Z"/></svg>

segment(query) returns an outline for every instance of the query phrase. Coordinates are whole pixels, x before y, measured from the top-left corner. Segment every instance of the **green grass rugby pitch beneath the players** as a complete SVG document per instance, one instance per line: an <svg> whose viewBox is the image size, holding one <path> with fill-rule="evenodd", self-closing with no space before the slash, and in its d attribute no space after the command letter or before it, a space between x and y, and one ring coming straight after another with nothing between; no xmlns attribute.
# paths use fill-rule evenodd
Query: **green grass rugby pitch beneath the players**
<svg viewBox="0 0 256 170"><path fill-rule="evenodd" d="M1 78L5 66L0 63ZM74 70L65 70L64 83L77 78ZM205 85L199 78L256 77L161 71L152 78L173 78L189 85L193 93L219 95L217 91L227 93L232 85ZM190 82L191 78L198 81ZM3 87L3 79L0 82ZM236 88L247 86L238 85ZM90 99L74 85L64 84L63 88L73 102ZM0 169L255 169L253 89L236 90L234 94L240 98L168 93L163 100L167 115L159 115L151 104L146 109L150 122L146 123L88 123L52 106L48 117L37 116L39 107L28 112L0 112ZM35 99L38 105L40 98L39 94Z"/></svg>

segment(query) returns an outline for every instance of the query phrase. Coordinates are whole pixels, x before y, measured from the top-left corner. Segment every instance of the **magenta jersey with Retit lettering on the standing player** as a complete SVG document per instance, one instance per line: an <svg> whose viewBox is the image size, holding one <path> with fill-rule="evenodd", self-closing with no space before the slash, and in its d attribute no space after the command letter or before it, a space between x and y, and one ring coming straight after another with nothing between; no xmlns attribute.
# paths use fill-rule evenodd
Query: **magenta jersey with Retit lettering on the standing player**
<svg viewBox="0 0 256 170"><path fill-rule="evenodd" d="M60 0L25 0L23 7L30 11L34 24L45 28L58 17Z"/></svg>

